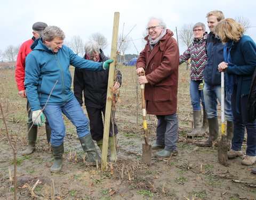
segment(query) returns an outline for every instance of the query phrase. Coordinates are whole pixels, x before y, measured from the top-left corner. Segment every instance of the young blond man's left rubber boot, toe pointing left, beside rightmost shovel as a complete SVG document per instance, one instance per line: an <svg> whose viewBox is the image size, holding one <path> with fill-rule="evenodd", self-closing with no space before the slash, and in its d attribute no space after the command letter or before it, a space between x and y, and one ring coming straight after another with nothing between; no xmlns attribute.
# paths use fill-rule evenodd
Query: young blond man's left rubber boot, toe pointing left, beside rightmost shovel
<svg viewBox="0 0 256 200"><path fill-rule="evenodd" d="M218 118L210 118L208 119L209 124L209 138L202 142L197 142L196 146L198 147L211 147L212 140L217 142L218 133L219 133L219 122Z"/></svg>

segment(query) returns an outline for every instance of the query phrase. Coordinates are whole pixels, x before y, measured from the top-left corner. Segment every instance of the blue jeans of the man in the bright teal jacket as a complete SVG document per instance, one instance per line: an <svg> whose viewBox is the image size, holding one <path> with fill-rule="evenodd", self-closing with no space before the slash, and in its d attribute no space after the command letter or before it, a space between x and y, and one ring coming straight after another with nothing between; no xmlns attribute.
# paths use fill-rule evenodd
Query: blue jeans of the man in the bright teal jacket
<svg viewBox="0 0 256 200"><path fill-rule="evenodd" d="M63 104L46 105L44 114L51 127L51 143L54 147L60 146L66 135L62 113L76 126L78 138L90 134L89 121L76 98Z"/></svg>

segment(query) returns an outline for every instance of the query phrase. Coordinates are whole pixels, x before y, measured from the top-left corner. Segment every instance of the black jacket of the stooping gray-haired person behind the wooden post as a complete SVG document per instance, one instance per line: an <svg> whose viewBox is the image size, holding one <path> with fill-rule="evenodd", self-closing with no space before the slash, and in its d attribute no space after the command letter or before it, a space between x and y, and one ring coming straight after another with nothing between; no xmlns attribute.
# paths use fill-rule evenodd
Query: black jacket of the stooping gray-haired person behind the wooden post
<svg viewBox="0 0 256 200"><path fill-rule="evenodd" d="M103 62L109 58L104 55L100 50L100 60ZM86 54L84 55L86 59ZM115 81L118 81L121 85L122 74L117 70L117 76ZM84 104L87 107L103 108L106 105L107 87L108 87L108 72L104 71L87 71L83 69L75 69L74 74L74 94L80 105L83 105L83 92L84 92Z"/></svg>

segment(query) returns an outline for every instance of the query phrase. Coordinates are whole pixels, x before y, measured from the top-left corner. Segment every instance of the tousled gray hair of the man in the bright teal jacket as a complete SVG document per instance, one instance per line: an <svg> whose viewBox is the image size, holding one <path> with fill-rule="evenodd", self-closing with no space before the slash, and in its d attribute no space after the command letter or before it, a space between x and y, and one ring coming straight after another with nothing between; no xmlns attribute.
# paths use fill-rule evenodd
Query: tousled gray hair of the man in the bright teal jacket
<svg viewBox="0 0 256 200"><path fill-rule="evenodd" d="M51 42L55 37L59 37L60 39L65 39L64 32L57 26L49 26L46 27L43 31L43 42L49 41Z"/></svg>

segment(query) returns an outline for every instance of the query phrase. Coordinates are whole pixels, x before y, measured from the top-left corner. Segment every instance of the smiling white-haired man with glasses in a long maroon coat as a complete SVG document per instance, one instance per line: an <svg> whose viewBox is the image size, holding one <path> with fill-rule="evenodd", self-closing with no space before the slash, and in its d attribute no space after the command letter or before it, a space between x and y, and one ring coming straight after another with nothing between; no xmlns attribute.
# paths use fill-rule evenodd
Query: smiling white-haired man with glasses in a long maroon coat
<svg viewBox="0 0 256 200"><path fill-rule="evenodd" d="M161 19L151 18L146 29L147 44L140 52L136 73L139 83L145 84L147 114L158 119L152 149L164 148L156 156L169 157L177 154L179 47Z"/></svg>

